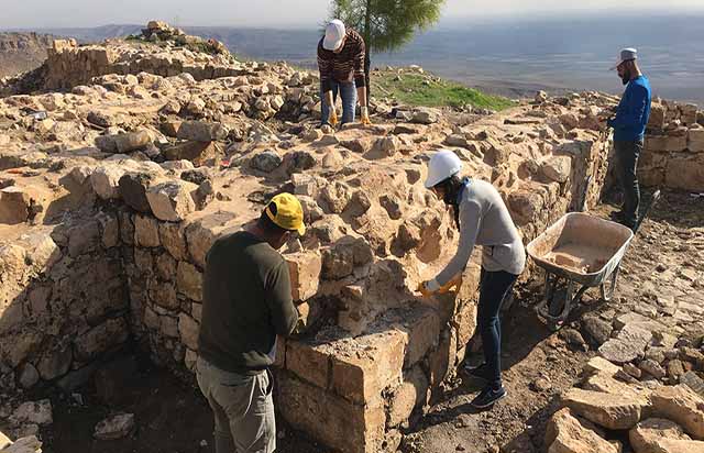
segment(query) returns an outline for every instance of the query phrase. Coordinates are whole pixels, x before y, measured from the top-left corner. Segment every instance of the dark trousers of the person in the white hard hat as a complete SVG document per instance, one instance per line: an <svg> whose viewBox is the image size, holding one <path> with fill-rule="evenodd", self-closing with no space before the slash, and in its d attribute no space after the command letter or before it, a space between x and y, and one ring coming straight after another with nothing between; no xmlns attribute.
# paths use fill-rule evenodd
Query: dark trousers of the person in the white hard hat
<svg viewBox="0 0 704 453"><path fill-rule="evenodd" d="M505 270L490 272L482 268L480 277L480 303L476 324L482 335L484 362L490 384L502 386L502 322L498 317L502 305L510 295L517 275Z"/></svg>

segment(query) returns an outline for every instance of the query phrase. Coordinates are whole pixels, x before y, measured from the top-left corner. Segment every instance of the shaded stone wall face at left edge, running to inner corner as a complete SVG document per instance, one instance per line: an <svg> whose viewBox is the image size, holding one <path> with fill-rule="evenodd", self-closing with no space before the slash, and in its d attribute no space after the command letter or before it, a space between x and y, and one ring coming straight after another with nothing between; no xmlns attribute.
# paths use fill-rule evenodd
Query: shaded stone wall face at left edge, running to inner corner
<svg viewBox="0 0 704 453"><path fill-rule="evenodd" d="M99 211L38 226L0 247L3 386L87 380L130 336L118 219Z"/></svg>

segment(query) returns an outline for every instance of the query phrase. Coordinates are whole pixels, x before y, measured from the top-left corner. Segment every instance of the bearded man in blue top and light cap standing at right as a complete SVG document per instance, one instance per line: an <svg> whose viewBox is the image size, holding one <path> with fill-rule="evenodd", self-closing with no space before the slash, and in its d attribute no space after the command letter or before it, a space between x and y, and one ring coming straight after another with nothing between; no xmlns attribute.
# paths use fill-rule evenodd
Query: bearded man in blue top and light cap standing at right
<svg viewBox="0 0 704 453"><path fill-rule="evenodd" d="M614 129L615 169L624 189L624 203L616 218L629 228L634 228L638 220L638 156L642 152L651 98L650 82L640 71L637 59L638 52L635 48L624 48L618 55L616 66L612 68L618 71L626 90L616 114L607 122Z"/></svg>

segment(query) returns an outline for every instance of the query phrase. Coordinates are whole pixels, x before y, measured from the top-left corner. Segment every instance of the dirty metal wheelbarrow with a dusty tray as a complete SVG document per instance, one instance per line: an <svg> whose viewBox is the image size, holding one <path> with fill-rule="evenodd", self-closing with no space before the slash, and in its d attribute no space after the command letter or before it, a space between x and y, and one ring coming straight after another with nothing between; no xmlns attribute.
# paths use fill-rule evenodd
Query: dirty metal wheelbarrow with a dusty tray
<svg viewBox="0 0 704 453"><path fill-rule="evenodd" d="M628 245L659 198L657 190L632 230L570 212L528 244L528 255L546 272L544 297L536 311L550 330L564 324L587 289L598 287L602 300L612 299Z"/></svg>

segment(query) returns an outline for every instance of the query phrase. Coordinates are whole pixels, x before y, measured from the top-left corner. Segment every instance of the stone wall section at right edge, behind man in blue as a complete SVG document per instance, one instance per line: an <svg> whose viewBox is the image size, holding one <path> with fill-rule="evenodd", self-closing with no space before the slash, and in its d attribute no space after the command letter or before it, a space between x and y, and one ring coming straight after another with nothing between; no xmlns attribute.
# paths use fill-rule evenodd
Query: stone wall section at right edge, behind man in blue
<svg viewBox="0 0 704 453"><path fill-rule="evenodd" d="M704 191L704 112L653 102L638 175L645 186Z"/></svg>

